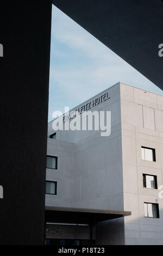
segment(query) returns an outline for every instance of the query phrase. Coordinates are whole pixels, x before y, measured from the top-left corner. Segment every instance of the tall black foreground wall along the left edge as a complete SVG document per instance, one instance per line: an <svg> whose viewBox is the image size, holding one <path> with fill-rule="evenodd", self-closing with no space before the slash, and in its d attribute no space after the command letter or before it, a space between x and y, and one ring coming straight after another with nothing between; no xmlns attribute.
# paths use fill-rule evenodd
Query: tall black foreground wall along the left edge
<svg viewBox="0 0 163 256"><path fill-rule="evenodd" d="M51 9L0 4L1 245L43 244Z"/></svg>

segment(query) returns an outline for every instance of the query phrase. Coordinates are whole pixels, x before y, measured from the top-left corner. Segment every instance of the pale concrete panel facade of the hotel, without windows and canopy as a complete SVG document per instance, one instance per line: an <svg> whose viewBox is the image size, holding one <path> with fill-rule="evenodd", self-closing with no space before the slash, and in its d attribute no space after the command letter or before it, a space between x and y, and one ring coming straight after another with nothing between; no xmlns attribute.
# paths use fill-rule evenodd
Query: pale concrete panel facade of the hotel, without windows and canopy
<svg viewBox="0 0 163 256"><path fill-rule="evenodd" d="M57 131L57 139L48 138L47 155L58 157L58 169L47 168L57 195L46 194L46 205L131 211L97 225L97 243L163 245L163 199L158 189L143 187L143 174L163 185L163 96L117 83L78 107L105 93L110 98L90 110L111 111L110 136ZM141 147L155 149L156 161L142 160ZM145 202L159 204L159 218L145 217Z"/></svg>

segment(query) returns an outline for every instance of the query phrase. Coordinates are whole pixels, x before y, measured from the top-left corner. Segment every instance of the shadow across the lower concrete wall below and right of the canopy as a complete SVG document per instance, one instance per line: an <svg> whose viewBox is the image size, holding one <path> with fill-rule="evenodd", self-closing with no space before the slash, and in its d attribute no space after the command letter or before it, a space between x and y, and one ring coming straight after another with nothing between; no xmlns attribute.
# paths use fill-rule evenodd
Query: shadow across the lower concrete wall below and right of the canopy
<svg viewBox="0 0 163 256"><path fill-rule="evenodd" d="M163 245L163 209L159 209L159 215L159 218L140 217L129 222L127 216L98 223L96 244Z"/></svg>

